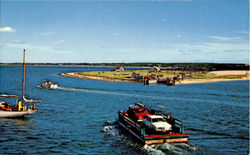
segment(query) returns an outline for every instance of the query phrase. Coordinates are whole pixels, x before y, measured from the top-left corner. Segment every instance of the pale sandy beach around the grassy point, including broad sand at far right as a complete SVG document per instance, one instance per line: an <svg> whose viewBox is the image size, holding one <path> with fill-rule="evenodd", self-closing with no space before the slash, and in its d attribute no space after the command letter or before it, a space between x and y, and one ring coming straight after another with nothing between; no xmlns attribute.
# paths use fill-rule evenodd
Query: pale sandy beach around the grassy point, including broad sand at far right
<svg viewBox="0 0 250 155"><path fill-rule="evenodd" d="M210 74L214 74L215 78L213 79L185 79L181 81L181 84L193 84L193 83L207 83L207 82L219 82L219 81L235 81L235 80L249 80L249 71L212 71ZM72 78L81 78L81 79L91 79L91 80L101 80L101 81L111 81L111 82L138 82L133 79L115 79L107 78L102 76L91 76L83 75L78 72L73 73L61 73L61 76L72 77ZM241 78L221 78L221 76L242 76ZM216 78L218 77L218 78ZM180 84L180 83L176 83Z"/></svg>

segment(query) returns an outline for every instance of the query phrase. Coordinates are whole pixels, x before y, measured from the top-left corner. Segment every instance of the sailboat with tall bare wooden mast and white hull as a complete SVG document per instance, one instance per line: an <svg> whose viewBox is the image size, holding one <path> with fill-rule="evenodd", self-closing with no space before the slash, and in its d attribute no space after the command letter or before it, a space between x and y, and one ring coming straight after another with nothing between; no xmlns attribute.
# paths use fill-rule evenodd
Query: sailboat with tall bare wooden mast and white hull
<svg viewBox="0 0 250 155"><path fill-rule="evenodd" d="M22 99L18 100L17 95L0 94L0 97L14 98L16 99L15 106L12 106L6 102L0 102L0 118L18 118L25 115L34 114L37 109L35 103L42 102L41 100L32 100L25 98L25 49L23 51L23 80L22 80ZM26 106L28 103L28 106Z"/></svg>

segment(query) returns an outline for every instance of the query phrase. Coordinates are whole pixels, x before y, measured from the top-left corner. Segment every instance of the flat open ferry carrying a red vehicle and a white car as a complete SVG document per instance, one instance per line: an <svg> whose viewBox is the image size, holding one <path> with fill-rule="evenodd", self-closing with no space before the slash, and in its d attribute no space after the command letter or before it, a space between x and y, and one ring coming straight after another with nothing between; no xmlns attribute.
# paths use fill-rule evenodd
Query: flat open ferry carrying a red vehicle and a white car
<svg viewBox="0 0 250 155"><path fill-rule="evenodd" d="M118 112L118 124L146 145L188 143L182 121L141 103Z"/></svg>

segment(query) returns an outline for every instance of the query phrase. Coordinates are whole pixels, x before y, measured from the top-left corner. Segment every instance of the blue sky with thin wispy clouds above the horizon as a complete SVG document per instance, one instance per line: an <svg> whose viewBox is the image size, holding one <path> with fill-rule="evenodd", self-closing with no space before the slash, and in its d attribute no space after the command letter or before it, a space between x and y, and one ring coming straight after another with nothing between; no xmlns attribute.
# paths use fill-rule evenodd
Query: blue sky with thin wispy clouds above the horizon
<svg viewBox="0 0 250 155"><path fill-rule="evenodd" d="M249 64L248 0L1 0L0 62Z"/></svg>

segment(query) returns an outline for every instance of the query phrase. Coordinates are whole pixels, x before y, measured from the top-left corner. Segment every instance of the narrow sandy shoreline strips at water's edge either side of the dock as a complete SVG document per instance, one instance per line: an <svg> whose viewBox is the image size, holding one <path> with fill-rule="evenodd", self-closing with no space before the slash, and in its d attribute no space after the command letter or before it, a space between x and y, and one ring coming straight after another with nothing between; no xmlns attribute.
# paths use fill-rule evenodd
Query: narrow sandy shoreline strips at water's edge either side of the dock
<svg viewBox="0 0 250 155"><path fill-rule="evenodd" d="M82 75L78 72L72 73L60 73L60 76L71 77L71 78L79 78L79 79L90 79L90 80L98 80L98 81L109 81L109 82L130 82L130 83L143 83L143 81L135 81L133 79L116 79L116 78L107 78L102 76L91 76L91 75ZM245 78L236 78L236 79L185 79L181 81L181 83L176 82L176 85L180 84L196 84L196 83L209 83L209 82L223 82L223 81L244 81L250 80L249 76Z"/></svg>

